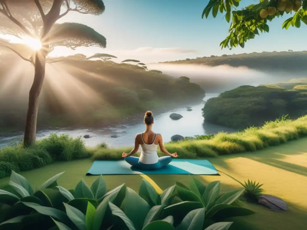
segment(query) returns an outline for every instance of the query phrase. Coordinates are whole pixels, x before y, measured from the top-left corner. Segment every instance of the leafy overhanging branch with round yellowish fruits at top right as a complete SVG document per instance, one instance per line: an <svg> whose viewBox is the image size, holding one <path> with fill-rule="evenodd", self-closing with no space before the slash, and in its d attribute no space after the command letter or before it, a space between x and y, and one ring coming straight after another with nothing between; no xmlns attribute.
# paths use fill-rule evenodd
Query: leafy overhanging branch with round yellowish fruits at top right
<svg viewBox="0 0 307 230"><path fill-rule="evenodd" d="M241 0L210 0L205 7L202 18L208 18L210 12L216 17L218 12L225 13L225 19L230 22L229 34L220 43L221 48L233 48L238 45L244 48L245 42L254 39L255 35L269 32L268 21L275 17L293 13L286 19L282 29L291 26L299 28L301 21L307 25L307 0L259 0L258 4L251 4L237 10Z"/></svg>

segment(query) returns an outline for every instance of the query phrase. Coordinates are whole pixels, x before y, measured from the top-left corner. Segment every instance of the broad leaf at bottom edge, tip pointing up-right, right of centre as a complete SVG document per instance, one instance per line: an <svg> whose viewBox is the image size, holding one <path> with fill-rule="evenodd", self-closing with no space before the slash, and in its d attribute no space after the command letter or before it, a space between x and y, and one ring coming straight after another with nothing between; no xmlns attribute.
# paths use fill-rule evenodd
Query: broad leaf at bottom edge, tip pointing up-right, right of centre
<svg viewBox="0 0 307 230"><path fill-rule="evenodd" d="M190 211L176 230L202 230L205 218L205 208Z"/></svg>

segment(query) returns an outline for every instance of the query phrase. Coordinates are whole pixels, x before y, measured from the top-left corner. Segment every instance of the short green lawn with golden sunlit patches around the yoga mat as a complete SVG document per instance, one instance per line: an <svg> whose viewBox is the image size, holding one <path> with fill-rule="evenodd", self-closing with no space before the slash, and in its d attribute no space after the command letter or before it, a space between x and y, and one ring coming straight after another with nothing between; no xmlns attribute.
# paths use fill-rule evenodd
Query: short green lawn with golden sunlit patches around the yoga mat
<svg viewBox="0 0 307 230"><path fill-rule="evenodd" d="M265 193L284 199L289 210L283 213L270 211L259 205L244 206L257 212L249 217L240 217L255 229L305 229L307 226L307 138L289 141L276 147L269 147L253 153L239 153L210 158L210 162L221 171L221 176L195 176L207 184L220 180L221 192L240 188L235 180L226 174L243 182L247 179L263 183ZM40 169L21 172L32 186L41 185L53 175L66 171L58 183L67 189L73 189L81 178L91 185L97 176L85 176L91 167L92 160L75 160L47 165ZM223 173L222 173L223 172ZM147 176L144 176L145 178ZM149 175L162 190L176 181L187 184L188 175ZM122 183L136 191L142 181L140 175L106 175L104 176L108 189L113 189ZM9 177L0 179L0 186L6 185ZM248 229L254 229L249 227Z"/></svg>

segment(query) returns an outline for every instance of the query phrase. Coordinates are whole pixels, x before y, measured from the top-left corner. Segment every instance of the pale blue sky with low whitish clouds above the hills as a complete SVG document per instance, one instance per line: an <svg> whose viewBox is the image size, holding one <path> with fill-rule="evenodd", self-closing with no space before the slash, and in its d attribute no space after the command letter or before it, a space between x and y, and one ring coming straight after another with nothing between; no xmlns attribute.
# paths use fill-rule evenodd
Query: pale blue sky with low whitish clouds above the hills
<svg viewBox="0 0 307 230"><path fill-rule="evenodd" d="M244 0L244 5L255 3ZM91 26L107 38L107 48L56 49L57 55L105 52L119 59L137 58L142 62L158 62L197 56L250 53L262 51L305 50L306 25L285 30L282 22L290 17L269 22L270 33L256 36L245 48L220 49L229 24L222 14L202 19L208 0L104 0L106 10L100 16L71 12L61 21L74 21ZM163 48L163 49L161 49ZM173 49L169 49L173 48ZM177 49L174 49L177 48Z"/></svg>

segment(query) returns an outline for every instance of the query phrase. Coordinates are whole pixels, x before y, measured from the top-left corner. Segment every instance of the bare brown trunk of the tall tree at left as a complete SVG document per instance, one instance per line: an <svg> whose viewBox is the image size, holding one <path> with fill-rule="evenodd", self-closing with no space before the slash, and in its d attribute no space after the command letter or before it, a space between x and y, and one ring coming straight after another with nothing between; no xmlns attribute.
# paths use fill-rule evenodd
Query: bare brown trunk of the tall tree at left
<svg viewBox="0 0 307 230"><path fill-rule="evenodd" d="M25 123L25 147L29 147L35 144L38 100L45 78L45 65L45 54L42 54L42 52L37 51L35 54L34 80L29 92L28 113Z"/></svg>

